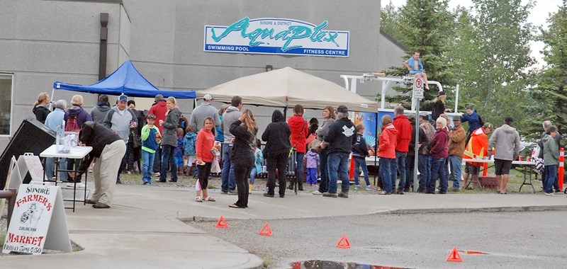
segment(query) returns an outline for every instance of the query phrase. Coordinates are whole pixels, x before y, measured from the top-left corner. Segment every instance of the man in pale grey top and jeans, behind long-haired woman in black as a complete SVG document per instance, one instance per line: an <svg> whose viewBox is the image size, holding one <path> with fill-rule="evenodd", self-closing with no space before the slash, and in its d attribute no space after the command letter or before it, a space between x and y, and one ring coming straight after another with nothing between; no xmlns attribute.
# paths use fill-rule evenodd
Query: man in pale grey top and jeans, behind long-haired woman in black
<svg viewBox="0 0 567 269"><path fill-rule="evenodd" d="M232 166L232 161L230 160L230 149L232 148L232 140L235 138L230 130L230 125L240 118L240 109L242 109L242 97L232 96L230 100L230 106L225 110L223 114L223 132L225 134L225 142L223 143L223 171L220 173L221 189L222 194L237 194L235 191L235 168Z"/></svg>

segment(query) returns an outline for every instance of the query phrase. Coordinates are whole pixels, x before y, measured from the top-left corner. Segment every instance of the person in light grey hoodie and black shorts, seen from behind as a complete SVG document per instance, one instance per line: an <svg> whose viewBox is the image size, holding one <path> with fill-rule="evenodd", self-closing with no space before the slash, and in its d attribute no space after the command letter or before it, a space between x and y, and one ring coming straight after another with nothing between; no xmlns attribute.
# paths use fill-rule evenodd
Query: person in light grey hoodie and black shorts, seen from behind
<svg viewBox="0 0 567 269"><path fill-rule="evenodd" d="M494 167L496 173L496 185L498 193L506 193L506 185L510 176L512 161L520 156L520 135L516 128L512 127L512 117L506 117L504 124L494 131L488 141L488 156L492 156L495 147Z"/></svg>

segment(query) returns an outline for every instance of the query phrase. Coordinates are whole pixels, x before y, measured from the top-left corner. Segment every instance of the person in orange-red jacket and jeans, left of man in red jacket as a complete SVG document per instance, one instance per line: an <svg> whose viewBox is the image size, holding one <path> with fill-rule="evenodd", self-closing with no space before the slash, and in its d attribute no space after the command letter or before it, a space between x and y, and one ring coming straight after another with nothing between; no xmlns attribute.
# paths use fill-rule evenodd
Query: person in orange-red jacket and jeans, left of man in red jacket
<svg viewBox="0 0 567 269"><path fill-rule="evenodd" d="M378 140L378 157L380 157L380 176L382 178L382 191L378 194L392 194L395 182L395 146L398 143L398 131L392 124L392 117L382 117L382 132Z"/></svg>

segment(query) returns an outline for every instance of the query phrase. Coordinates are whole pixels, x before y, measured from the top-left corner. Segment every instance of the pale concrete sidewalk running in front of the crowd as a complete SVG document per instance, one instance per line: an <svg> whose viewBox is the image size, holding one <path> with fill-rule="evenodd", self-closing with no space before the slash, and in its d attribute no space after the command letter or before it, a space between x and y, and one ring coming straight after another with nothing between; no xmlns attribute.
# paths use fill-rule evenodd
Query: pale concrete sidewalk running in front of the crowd
<svg viewBox="0 0 567 269"><path fill-rule="evenodd" d="M89 183L89 188L93 188ZM216 202L194 202L188 188L117 185L114 205L66 210L69 236L83 251L4 256L1 268L262 268L262 259L194 229L181 220L293 219L360 214L567 210L566 195L448 194L354 195L323 198L311 193L265 198L254 192L249 208L228 207L236 195L210 190ZM305 205L309 205L306 207Z"/></svg>

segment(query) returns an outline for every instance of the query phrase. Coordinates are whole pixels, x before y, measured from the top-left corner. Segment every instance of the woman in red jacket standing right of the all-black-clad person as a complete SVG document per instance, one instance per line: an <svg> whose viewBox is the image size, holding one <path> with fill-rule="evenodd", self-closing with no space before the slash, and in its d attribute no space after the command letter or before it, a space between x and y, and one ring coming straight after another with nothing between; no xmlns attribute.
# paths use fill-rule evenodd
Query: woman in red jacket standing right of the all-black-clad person
<svg viewBox="0 0 567 269"><path fill-rule="evenodd" d="M297 189L303 190L303 156L305 156L305 140L308 136L308 123L303 119L303 105L297 104L293 107L293 117L288 119L289 129L291 130L291 147L296 149L296 182ZM293 190L293 185L296 183L293 179L289 181L288 189Z"/></svg>

